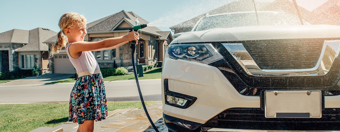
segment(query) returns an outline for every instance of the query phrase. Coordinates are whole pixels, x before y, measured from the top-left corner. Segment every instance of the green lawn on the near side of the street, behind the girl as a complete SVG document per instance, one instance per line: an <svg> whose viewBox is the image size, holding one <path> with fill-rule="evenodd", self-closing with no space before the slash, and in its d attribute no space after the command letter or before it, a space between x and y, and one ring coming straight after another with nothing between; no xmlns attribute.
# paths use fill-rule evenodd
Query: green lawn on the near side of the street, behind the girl
<svg viewBox="0 0 340 132"><path fill-rule="evenodd" d="M146 101L145 105L155 102ZM1 132L28 132L39 127L56 127L68 122L69 103L0 105ZM107 102L108 111L142 108L140 102Z"/></svg>

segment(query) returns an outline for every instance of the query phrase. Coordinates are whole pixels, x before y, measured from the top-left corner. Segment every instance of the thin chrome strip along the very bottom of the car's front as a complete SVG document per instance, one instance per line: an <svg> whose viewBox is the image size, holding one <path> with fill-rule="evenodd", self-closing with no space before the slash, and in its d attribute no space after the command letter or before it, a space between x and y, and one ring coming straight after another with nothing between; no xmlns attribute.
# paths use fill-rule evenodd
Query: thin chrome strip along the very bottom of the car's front
<svg viewBox="0 0 340 132"><path fill-rule="evenodd" d="M245 129L226 129L211 128L208 132L340 132L340 131L288 131L288 130L245 130Z"/></svg>

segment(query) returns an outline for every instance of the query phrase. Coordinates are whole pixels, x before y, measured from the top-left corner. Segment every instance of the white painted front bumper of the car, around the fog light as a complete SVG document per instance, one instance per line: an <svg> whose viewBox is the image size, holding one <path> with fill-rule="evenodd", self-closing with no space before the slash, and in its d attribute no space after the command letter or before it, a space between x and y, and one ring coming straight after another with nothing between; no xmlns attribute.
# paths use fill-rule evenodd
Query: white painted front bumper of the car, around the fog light
<svg viewBox="0 0 340 132"><path fill-rule="evenodd" d="M165 79L169 91L197 97L195 103L186 109L166 105ZM169 57L164 58L162 100L164 114L199 124L229 108L260 108L259 96L241 95L217 67ZM325 96L324 101L325 108L340 108L340 95Z"/></svg>

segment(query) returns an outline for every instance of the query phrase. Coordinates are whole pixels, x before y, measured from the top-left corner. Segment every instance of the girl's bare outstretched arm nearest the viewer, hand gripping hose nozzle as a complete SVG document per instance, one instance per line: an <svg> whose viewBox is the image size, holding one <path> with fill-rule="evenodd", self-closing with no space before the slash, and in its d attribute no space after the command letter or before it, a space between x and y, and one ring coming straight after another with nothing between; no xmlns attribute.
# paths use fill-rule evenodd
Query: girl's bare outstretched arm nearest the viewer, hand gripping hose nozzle
<svg viewBox="0 0 340 132"><path fill-rule="evenodd" d="M85 41L78 41L74 42L69 47L69 52L72 54L78 54L82 51L96 51L96 50L106 50L106 49L114 49L118 48L119 46L128 43L128 41L138 41L138 32L128 32L127 35L116 37L116 38L107 38L102 41L96 42L85 42ZM75 55L77 56L77 55Z"/></svg>

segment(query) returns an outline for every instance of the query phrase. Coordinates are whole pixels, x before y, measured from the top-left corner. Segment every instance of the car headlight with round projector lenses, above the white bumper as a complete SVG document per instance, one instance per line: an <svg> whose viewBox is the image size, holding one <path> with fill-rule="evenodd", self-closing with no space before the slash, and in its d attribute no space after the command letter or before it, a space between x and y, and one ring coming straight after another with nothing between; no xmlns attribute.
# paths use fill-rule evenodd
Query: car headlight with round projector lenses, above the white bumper
<svg viewBox="0 0 340 132"><path fill-rule="evenodd" d="M211 44L171 44L168 47L168 55L172 59L209 64L223 58Z"/></svg>

